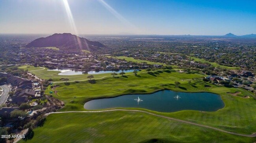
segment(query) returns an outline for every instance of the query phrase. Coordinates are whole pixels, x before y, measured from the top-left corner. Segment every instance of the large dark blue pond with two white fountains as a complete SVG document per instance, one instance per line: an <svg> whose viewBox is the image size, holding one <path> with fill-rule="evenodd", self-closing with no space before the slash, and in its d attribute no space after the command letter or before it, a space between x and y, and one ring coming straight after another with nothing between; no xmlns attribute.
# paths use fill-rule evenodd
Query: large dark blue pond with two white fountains
<svg viewBox="0 0 256 143"><path fill-rule="evenodd" d="M137 99L143 101L137 101ZM217 111L224 107L221 96L209 92L186 93L163 90L152 94L127 94L115 98L88 101L84 108L88 110L116 107L136 107L158 112L180 110Z"/></svg>

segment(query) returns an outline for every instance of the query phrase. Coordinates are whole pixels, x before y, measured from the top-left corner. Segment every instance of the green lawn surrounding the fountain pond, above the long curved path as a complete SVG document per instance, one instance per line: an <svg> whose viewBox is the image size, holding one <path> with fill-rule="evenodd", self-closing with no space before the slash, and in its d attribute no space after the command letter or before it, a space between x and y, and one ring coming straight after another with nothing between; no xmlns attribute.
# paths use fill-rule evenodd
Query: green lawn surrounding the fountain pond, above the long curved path
<svg viewBox="0 0 256 143"><path fill-rule="evenodd" d="M240 88L226 88L219 85L212 85L202 81L192 81L193 85L188 81L194 77L201 77L201 74L186 74L171 71L156 72L154 75L147 73L138 74L138 76L128 75L126 77L113 78L108 77L96 80L95 84L89 81L81 81L79 83L70 82L69 85L64 83L54 83L59 85L56 89L48 89L56 91L54 97L65 102L62 111L68 110L85 110L83 104L94 98L111 97L121 94L130 93L150 93L161 89L170 89L181 92L213 92L221 95L225 103L225 107L216 112L200 112L192 110L184 110L173 113L159 113L165 116L175 117L209 125L212 127L239 132L243 134L252 134L256 130L256 102L252 98L252 92ZM180 81L180 88L174 86L174 81ZM210 85L211 87L204 87ZM226 92L241 92L241 96L247 95L250 98L232 96ZM154 111L150 111L154 112Z"/></svg>

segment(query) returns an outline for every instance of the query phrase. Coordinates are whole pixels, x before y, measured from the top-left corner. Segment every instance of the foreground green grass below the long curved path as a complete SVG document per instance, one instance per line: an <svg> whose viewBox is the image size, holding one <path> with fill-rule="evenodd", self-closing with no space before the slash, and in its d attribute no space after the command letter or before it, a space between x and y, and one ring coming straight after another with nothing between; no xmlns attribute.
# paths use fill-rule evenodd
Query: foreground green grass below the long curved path
<svg viewBox="0 0 256 143"><path fill-rule="evenodd" d="M247 138L138 112L63 113L47 117L26 143L249 143ZM20 143L25 142L21 140Z"/></svg>

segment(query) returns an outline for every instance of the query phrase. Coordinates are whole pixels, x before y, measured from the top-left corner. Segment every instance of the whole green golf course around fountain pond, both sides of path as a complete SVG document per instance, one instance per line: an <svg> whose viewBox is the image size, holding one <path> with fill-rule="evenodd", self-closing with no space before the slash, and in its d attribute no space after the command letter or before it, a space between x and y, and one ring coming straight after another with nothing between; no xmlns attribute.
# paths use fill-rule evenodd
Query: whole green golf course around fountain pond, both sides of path
<svg viewBox="0 0 256 143"><path fill-rule="evenodd" d="M47 73L44 75L44 73ZM50 72L55 72L52 75ZM56 71L39 69L32 71L38 77L58 80L61 76ZM56 74L57 73L57 74ZM48 77L49 76L49 77ZM78 78L83 76L84 78ZM34 129L34 137L26 142L254 142L256 138L237 136L197 125L189 125L143 112L79 112L85 102L121 96L125 94L148 94L169 89L177 92L211 92L219 94L224 108L215 112L182 110L178 112L156 112L138 108L117 108L142 110L160 116L189 121L200 125L214 127L237 134L250 135L256 132L256 102L250 91L241 88L213 85L202 80L195 80L205 75L198 73L180 73L173 70L153 72L139 71L135 76L98 74L90 82L85 75L63 76L70 80L66 83L53 82L45 93L65 102L58 110L59 114L50 114L43 127ZM193 80L194 79L194 80ZM77 80L77 81L76 81ZM78 81L80 80L80 81ZM82 80L82 81L81 81ZM179 81L180 85L175 85ZM241 92L234 96L230 93ZM249 98L245 98L249 97ZM109 109L104 109L109 110ZM65 113L66 112L66 113ZM118 136L118 138L116 138ZM58 138L56 138L58 137ZM25 142L24 140L20 142Z"/></svg>

